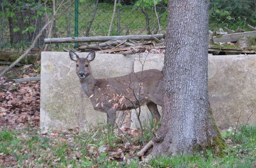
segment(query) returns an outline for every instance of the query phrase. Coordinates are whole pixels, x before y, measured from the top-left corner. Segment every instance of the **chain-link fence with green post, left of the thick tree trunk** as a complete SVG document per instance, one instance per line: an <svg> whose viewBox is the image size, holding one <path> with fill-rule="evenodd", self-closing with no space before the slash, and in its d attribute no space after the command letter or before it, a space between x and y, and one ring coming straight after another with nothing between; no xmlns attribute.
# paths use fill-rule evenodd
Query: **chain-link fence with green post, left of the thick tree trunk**
<svg viewBox="0 0 256 168"><path fill-rule="evenodd" d="M163 0L76 0L71 5L72 2L55 0L56 16L64 13L54 22L52 31L49 26L42 34L36 47L44 44L49 32L51 37L157 34L163 33L167 25L167 1ZM0 47L26 48L52 14L52 1L2 0Z"/></svg>

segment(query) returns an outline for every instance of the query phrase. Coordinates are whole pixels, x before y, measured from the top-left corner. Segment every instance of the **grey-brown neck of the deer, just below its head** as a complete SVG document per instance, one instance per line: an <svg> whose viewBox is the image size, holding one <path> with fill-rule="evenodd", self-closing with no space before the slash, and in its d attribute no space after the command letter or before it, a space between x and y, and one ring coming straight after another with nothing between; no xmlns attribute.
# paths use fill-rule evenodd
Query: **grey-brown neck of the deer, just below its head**
<svg viewBox="0 0 256 168"><path fill-rule="evenodd" d="M94 92L95 78L90 75L85 79L80 79L80 83L82 86L82 90L86 93L88 97L90 97Z"/></svg>

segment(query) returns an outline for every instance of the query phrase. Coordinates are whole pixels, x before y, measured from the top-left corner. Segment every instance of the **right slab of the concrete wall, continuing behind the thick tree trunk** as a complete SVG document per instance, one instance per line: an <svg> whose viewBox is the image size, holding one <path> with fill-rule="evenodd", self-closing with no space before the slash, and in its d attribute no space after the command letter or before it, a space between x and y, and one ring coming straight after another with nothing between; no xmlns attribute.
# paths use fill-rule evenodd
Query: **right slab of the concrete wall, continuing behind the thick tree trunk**
<svg viewBox="0 0 256 168"><path fill-rule="evenodd" d="M143 57L144 58L144 57ZM134 69L142 69L143 58L135 58ZM164 55L147 57L143 69L163 67ZM208 55L208 92L211 108L220 129L240 123L256 121L256 55ZM159 107L158 107L159 108ZM161 108L159 110L161 112ZM142 123L150 121L150 112L142 107ZM139 127L135 110L132 110L131 127ZM144 121L144 122L143 122Z"/></svg>

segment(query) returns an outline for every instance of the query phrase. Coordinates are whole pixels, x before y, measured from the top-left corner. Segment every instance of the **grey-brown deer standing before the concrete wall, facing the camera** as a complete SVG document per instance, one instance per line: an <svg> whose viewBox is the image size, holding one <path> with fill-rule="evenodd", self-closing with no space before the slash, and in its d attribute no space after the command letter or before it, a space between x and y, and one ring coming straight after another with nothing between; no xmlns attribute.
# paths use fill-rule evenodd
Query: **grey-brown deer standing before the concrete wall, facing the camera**
<svg viewBox="0 0 256 168"><path fill-rule="evenodd" d="M69 56L76 63L76 74L83 92L95 110L106 113L108 124L114 126L117 110L136 109L143 104L146 104L153 119L160 121L157 105L163 105L162 71L150 69L120 77L96 79L90 66L95 51L91 51L86 58L79 58L70 50Z"/></svg>

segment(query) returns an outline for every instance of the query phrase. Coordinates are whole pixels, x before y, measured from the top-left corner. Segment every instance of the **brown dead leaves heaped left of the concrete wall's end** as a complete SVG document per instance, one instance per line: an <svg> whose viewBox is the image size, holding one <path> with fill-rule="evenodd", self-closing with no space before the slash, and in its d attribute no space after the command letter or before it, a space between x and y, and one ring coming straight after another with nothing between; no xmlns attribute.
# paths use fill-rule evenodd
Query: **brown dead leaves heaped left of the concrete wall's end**
<svg viewBox="0 0 256 168"><path fill-rule="evenodd" d="M20 70L19 77L33 77L39 72L30 66ZM40 82L13 83L0 78L0 127L23 128L27 124L39 126Z"/></svg>

